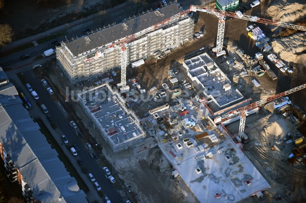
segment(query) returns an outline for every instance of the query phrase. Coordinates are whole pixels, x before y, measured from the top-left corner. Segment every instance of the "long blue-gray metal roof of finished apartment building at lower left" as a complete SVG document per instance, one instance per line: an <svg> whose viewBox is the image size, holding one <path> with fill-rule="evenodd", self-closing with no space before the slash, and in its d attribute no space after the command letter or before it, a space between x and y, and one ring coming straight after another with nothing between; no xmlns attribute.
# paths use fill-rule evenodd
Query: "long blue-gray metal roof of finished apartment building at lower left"
<svg viewBox="0 0 306 203"><path fill-rule="evenodd" d="M0 95L2 92L0 91ZM0 97L0 142L41 202L87 202L19 97Z"/></svg>

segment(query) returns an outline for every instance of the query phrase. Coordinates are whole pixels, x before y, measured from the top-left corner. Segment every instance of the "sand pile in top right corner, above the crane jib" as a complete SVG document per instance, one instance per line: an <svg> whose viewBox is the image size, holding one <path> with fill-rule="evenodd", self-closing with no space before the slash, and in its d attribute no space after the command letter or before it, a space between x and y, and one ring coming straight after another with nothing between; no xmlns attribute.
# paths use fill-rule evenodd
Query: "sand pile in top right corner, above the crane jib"
<svg viewBox="0 0 306 203"><path fill-rule="evenodd" d="M306 15L305 0L276 0L263 15L283 23L293 23Z"/></svg>

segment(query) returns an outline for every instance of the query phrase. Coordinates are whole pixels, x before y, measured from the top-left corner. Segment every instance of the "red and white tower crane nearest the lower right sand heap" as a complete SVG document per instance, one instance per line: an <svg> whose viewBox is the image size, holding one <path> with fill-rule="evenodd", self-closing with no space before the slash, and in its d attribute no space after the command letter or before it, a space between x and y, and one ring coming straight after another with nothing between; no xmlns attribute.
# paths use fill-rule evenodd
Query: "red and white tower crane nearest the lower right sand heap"
<svg viewBox="0 0 306 203"><path fill-rule="evenodd" d="M267 102L271 102L277 98L280 98L280 97L284 97L288 94L291 94L293 92L296 92L296 91L299 91L301 89L304 89L306 87L306 84L303 84L301 86L298 86L298 87L295 87L293 89L290 89L290 90L287 90L287 91L284 91L280 94L276 94L274 96L270 96L270 97L267 97L265 99L262 99L262 100L259 100L255 103L252 103L252 104L249 104L247 106L244 106L244 107L241 107L239 109L236 109L236 110L233 110L233 111L230 111L228 112L227 114L223 115L223 116L218 116L215 118L215 123L222 123L228 119L231 119L233 117L236 117L240 114L241 118L240 118L240 125L239 125L239 132L238 132L238 136L240 138L243 137L243 133L244 133L244 124L245 124L245 117L248 116L248 112L251 111L252 109L255 109L255 108L259 108L261 107L261 105L267 103Z"/></svg>

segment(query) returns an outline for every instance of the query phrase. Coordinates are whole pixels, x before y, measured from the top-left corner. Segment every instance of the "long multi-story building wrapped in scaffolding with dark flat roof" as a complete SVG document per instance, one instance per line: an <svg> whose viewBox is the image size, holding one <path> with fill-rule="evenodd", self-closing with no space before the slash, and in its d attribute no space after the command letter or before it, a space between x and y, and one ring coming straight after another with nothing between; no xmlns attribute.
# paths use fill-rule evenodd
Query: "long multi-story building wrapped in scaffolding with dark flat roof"
<svg viewBox="0 0 306 203"><path fill-rule="evenodd" d="M62 42L56 48L56 56L70 81L76 83L120 67L124 52L116 46L119 40L135 37L125 44L127 63L132 63L192 40L193 27L193 18L174 1L156 11L92 31L88 36Z"/></svg>

